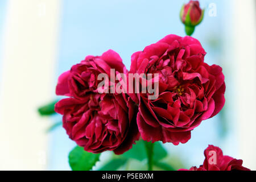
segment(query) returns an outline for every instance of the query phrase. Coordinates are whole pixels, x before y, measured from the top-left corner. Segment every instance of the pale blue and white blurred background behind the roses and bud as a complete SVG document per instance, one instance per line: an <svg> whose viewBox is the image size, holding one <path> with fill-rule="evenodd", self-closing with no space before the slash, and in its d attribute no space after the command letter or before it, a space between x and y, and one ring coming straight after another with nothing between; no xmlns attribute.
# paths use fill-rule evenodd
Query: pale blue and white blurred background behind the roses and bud
<svg viewBox="0 0 256 182"><path fill-rule="evenodd" d="M75 142L58 125L60 115L40 117L38 107L59 99L57 77L86 55L117 51L130 68L135 51L168 34L185 36L183 3L170 0L1 0L0 169L70 170ZM256 169L256 32L254 0L201 0L205 17L193 37L205 62L224 69L221 114L192 131L186 144L164 144L174 168L203 164L208 144ZM108 160L111 154L101 156ZM134 161L126 169L144 169ZM136 165L135 165L136 164ZM101 164L98 164L101 165ZM136 167L135 167L136 166ZM97 168L96 168L97 169Z"/></svg>

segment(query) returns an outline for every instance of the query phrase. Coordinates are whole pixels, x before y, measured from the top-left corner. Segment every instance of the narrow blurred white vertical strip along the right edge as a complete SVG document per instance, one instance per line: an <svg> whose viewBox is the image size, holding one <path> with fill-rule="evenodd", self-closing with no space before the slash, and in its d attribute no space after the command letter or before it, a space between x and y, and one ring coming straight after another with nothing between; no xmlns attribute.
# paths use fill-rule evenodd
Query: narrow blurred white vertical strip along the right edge
<svg viewBox="0 0 256 182"><path fill-rule="evenodd" d="M234 115L237 118L239 158L243 166L256 170L256 3L233 1Z"/></svg>

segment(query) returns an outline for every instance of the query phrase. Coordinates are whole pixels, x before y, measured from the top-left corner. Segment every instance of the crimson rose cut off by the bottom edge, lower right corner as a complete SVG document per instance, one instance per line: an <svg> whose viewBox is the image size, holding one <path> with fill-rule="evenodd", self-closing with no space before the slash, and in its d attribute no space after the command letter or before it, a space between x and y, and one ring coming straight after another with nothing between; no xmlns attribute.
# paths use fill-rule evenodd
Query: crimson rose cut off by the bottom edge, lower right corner
<svg viewBox="0 0 256 182"><path fill-rule="evenodd" d="M250 171L250 169L242 166L242 160L223 155L220 148L212 145L209 145L204 151L204 156L204 164L199 168L191 167L189 170L179 169L179 171Z"/></svg>

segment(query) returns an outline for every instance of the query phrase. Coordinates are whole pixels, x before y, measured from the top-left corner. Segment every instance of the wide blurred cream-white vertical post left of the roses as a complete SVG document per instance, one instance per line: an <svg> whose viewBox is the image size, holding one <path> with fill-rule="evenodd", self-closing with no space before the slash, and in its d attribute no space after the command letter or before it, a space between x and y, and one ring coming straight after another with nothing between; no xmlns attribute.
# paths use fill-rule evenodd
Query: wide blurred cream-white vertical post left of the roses
<svg viewBox="0 0 256 182"><path fill-rule="evenodd" d="M0 85L1 170L46 169L49 122L36 108L52 97L59 10L59 0L8 1Z"/></svg>

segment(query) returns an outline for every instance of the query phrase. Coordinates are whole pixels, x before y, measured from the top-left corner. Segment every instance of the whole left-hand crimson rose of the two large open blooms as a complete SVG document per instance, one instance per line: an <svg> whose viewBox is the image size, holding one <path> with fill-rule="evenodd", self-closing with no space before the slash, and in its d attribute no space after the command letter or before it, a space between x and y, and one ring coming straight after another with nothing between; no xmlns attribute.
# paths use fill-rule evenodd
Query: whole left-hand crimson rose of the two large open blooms
<svg viewBox="0 0 256 182"><path fill-rule="evenodd" d="M134 102L126 94L99 94L97 76L110 68L126 71L119 55L110 50L102 56L87 56L59 77L57 95L70 96L55 105L63 115L69 138L88 152L106 150L122 154L139 139Z"/></svg>

